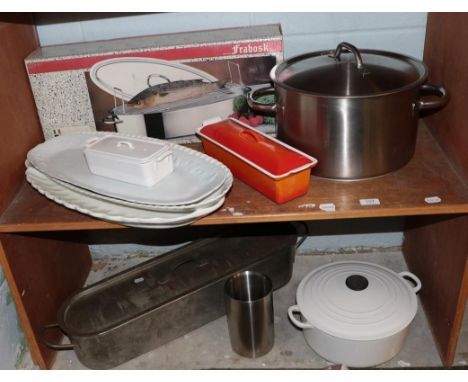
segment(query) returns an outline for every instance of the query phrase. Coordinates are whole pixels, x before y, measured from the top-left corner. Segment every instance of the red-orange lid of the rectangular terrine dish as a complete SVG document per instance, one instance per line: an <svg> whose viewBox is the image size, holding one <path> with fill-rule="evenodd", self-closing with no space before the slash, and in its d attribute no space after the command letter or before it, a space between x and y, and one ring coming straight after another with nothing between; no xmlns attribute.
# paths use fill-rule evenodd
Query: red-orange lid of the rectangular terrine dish
<svg viewBox="0 0 468 382"><path fill-rule="evenodd" d="M317 159L232 118L197 133L275 179L317 164Z"/></svg>

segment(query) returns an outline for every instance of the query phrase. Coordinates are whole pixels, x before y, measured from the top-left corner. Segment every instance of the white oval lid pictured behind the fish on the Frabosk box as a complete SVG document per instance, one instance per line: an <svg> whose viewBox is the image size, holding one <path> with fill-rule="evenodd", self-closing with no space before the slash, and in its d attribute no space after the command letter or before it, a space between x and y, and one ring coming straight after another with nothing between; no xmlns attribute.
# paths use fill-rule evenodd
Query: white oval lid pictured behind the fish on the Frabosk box
<svg viewBox="0 0 468 382"><path fill-rule="evenodd" d="M103 60L90 69L90 78L110 95L129 101L149 86L166 83L167 79L217 81L202 70L174 61L144 57L122 57Z"/></svg>

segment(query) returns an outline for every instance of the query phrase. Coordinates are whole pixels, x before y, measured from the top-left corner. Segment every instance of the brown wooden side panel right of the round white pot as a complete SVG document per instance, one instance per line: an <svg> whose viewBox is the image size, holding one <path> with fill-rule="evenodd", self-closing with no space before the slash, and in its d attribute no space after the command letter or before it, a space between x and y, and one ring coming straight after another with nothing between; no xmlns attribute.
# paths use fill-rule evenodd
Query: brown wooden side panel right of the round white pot
<svg viewBox="0 0 468 382"><path fill-rule="evenodd" d="M403 254L445 366L453 364L468 298L468 215L406 219Z"/></svg>

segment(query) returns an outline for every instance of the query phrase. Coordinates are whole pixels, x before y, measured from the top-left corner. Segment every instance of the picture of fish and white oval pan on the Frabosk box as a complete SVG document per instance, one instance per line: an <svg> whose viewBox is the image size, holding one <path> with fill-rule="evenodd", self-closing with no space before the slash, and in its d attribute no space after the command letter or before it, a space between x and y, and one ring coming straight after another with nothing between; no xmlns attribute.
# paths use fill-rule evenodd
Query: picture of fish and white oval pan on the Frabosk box
<svg viewBox="0 0 468 382"><path fill-rule="evenodd" d="M193 137L205 121L229 116L273 122L247 106L265 86L272 56L180 63L147 57L97 62L85 74L96 130L162 139Z"/></svg>

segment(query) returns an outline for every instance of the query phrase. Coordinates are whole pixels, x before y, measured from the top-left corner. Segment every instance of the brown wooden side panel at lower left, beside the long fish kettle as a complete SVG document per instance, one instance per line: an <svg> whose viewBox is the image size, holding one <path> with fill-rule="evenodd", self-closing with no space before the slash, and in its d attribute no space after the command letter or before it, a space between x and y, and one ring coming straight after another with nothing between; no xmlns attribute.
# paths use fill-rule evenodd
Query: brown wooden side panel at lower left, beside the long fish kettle
<svg viewBox="0 0 468 382"><path fill-rule="evenodd" d="M51 368L56 352L40 338L57 321L62 302L80 289L91 268L88 246L41 235L0 235L0 262L8 281L33 362ZM60 341L61 334L55 333Z"/></svg>

